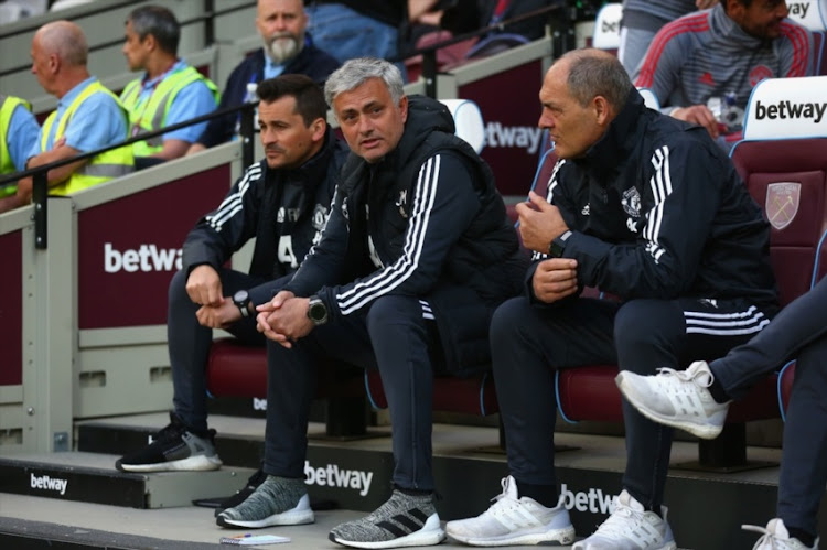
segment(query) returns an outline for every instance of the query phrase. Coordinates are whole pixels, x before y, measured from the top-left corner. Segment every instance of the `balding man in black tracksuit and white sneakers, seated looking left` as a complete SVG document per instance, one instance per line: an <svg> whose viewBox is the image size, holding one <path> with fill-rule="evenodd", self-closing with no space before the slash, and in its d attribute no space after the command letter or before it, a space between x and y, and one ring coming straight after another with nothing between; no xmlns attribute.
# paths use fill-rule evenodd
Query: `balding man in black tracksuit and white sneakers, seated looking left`
<svg viewBox="0 0 827 550"><path fill-rule="evenodd" d="M648 109L620 61L577 50L549 68L539 127L558 157L546 196L517 205L534 251L526 295L491 324L509 475L469 544L573 542L554 466L555 371L651 374L716 357L777 310L770 226L701 127ZM581 298L586 287L620 300ZM612 515L577 550L674 550L662 506L672 430L623 401L627 463Z"/></svg>

